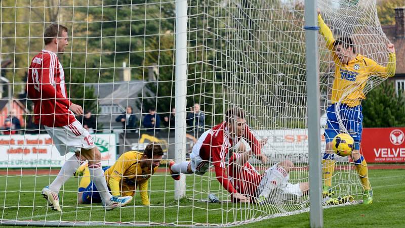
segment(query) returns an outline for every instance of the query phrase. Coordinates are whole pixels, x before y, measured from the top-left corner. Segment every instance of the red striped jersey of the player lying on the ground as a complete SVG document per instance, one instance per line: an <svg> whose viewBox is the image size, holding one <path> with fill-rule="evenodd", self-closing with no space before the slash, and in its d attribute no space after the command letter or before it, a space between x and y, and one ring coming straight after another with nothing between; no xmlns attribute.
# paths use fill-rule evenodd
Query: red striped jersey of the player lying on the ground
<svg viewBox="0 0 405 228"><path fill-rule="evenodd" d="M239 157L240 154L234 153L229 159L229 179L238 193L256 196L262 176L249 162L246 162L244 166L236 165L235 161Z"/></svg>

